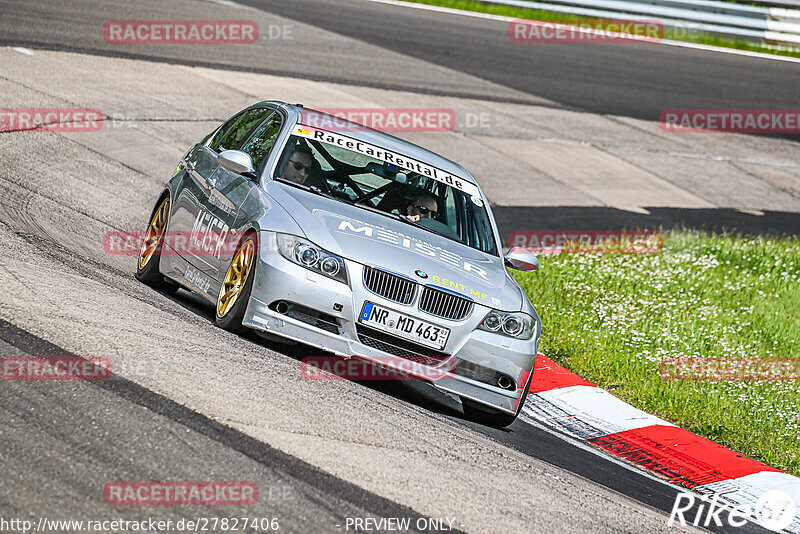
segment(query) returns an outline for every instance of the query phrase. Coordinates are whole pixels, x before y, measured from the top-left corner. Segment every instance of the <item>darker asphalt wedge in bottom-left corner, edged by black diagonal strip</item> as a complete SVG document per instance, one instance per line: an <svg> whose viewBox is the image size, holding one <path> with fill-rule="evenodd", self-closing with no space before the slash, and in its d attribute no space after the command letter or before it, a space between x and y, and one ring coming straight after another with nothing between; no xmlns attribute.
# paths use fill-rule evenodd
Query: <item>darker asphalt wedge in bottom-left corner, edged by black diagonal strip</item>
<svg viewBox="0 0 800 534"><path fill-rule="evenodd" d="M13 356L74 356L0 320L0 343ZM169 480L260 480L260 498L253 506L208 507L196 517L288 519L282 529L325 532L344 527L347 517L405 517L425 524L413 510L332 477L174 401L119 376L102 382L7 383L0 388L6 491L0 496L2 516L36 515L63 518L141 519L138 511L98 516L97 484L112 480L148 480L168 467ZM13 432L10 430L14 429ZM147 457L128 463L124 457ZM10 469L10 466L16 466ZM34 467L35 466L35 467ZM162 475L163 476L163 475ZM217 475L219 476L219 475ZM22 494L25 507L19 507ZM68 510L54 502L69 496ZM58 496L56 496L58 495ZM180 507L155 514L177 523L187 515ZM303 518L302 523L297 518ZM34 522L35 519L34 519ZM332 528L334 527L334 528ZM412 529L416 530L416 529ZM457 530L455 530L457 532Z"/></svg>

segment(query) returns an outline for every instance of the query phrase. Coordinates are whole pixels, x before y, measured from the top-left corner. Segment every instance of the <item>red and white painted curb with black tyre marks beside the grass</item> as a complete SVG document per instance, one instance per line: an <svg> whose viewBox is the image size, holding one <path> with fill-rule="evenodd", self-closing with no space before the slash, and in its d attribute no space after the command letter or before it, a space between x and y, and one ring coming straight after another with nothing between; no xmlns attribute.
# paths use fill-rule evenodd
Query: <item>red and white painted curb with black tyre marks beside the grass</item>
<svg viewBox="0 0 800 534"><path fill-rule="evenodd" d="M672 484L717 494L730 507L755 510L767 492L782 491L796 505L782 532L800 534L800 478L634 408L542 354L522 412Z"/></svg>

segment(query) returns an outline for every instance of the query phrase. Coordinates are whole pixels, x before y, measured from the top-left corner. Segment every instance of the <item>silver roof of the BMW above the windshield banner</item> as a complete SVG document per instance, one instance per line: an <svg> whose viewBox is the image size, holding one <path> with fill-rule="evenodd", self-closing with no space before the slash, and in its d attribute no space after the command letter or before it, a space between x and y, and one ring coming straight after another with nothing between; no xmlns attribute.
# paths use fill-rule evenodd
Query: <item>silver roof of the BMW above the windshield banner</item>
<svg viewBox="0 0 800 534"><path fill-rule="evenodd" d="M397 138L393 135L389 135L384 132L379 132L378 130L373 130L367 126L364 126L363 124L351 122L343 118L325 113L323 111L306 108L301 104L287 104L285 102L280 102L275 100L262 102L262 104L270 104L273 106L279 106L283 108L289 114L289 120L293 124L296 124L298 122L302 124L301 117L303 112L318 113L320 121L324 121L325 119L330 119L330 121L335 120L335 124L337 126L342 125L344 129L347 130L344 132L344 135L346 135L347 137L352 137L353 139L364 141L365 143L370 143L373 145L378 145L384 148L388 148L393 152L397 152L399 154L403 154L410 158L420 160L440 170L449 172L450 174L458 175L459 177L466 179L468 182L472 184L478 185L477 181L469 173L469 171L467 171L464 167L462 167L458 163L455 163L454 161L442 157L439 154L436 154L435 152L431 152L430 150L424 149L413 143L409 143L408 141L404 141L403 139ZM350 125L353 126L352 131L350 131L348 128L348 126Z"/></svg>

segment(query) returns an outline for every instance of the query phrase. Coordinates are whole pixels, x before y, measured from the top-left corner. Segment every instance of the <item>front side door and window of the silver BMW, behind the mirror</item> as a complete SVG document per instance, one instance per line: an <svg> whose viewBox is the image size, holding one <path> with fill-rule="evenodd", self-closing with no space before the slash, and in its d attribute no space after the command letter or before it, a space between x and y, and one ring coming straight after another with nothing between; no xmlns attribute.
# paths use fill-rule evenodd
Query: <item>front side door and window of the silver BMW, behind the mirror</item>
<svg viewBox="0 0 800 534"><path fill-rule="evenodd" d="M272 150L283 121L280 113L271 108L260 108L243 121L247 123L248 132L237 139L223 140L219 151L241 150L253 158L253 167L258 169ZM204 247L211 268L209 274L217 280L225 275L242 227L247 223L240 207L254 187L258 185L253 177L242 176L222 166L217 168L213 177L213 190L203 205L197 224L205 229L206 234L211 234Z"/></svg>

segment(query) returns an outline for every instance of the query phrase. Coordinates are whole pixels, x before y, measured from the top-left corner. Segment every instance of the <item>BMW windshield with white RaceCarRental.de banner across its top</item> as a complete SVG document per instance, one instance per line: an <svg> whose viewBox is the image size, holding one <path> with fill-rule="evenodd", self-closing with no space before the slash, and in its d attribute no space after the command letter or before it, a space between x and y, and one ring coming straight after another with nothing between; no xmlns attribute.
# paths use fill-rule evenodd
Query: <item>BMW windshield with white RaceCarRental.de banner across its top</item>
<svg viewBox="0 0 800 534"><path fill-rule="evenodd" d="M475 184L383 147L298 125L275 177L497 255Z"/></svg>

